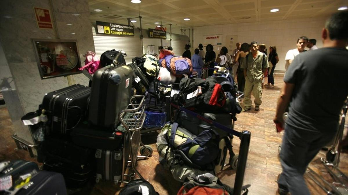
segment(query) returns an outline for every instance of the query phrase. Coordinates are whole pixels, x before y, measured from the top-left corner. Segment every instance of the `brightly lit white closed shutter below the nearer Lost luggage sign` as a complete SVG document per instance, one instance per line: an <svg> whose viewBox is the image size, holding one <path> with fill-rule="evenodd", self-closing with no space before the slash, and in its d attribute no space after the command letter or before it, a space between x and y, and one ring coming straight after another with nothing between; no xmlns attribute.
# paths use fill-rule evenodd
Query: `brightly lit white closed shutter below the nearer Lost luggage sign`
<svg viewBox="0 0 348 195"><path fill-rule="evenodd" d="M140 32L134 29L134 36L106 36L95 33L95 27L92 26L94 48L97 56L112 49L124 50L127 54L125 57L126 63L132 63L134 57L142 56L143 51L141 47L141 40L139 38Z"/></svg>

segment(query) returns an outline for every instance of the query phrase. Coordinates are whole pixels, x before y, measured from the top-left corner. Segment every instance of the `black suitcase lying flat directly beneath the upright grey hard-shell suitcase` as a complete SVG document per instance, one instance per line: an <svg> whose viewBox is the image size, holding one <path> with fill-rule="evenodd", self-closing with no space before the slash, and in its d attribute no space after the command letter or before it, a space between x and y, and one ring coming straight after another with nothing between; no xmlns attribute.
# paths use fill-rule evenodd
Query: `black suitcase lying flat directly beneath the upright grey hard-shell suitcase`
<svg viewBox="0 0 348 195"><path fill-rule="evenodd" d="M90 127L81 124L71 133L73 143L102 150L116 150L123 147L125 130L119 126L114 132L106 131L102 127Z"/></svg>

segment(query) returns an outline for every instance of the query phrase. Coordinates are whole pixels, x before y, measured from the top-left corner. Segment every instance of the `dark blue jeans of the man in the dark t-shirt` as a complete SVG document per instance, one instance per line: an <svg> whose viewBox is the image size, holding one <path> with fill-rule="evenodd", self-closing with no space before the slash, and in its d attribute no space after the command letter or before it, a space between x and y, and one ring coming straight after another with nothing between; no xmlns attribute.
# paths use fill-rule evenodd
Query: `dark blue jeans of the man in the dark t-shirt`
<svg viewBox="0 0 348 195"><path fill-rule="evenodd" d="M285 125L280 152L283 172L278 178L278 187L291 194L310 195L303 175L310 161L335 135L335 131L315 132Z"/></svg>

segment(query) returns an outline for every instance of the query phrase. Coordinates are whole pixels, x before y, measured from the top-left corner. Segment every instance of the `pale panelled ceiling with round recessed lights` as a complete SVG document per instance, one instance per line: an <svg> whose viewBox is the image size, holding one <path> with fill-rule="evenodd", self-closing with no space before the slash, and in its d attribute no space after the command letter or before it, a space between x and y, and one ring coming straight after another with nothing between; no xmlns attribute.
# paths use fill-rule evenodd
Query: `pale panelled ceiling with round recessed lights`
<svg viewBox="0 0 348 195"><path fill-rule="evenodd" d="M127 24L126 18L142 16L143 28L154 28L160 22L172 28L219 24L248 23L329 16L348 0L89 0L92 22ZM278 12L270 12L277 8ZM96 12L94 9L101 9ZM250 18L249 18L250 17ZM184 21L184 18L190 18ZM247 18L247 19L246 19ZM139 18L135 19L136 27ZM166 26L169 28L169 26ZM169 30L167 30L169 31Z"/></svg>

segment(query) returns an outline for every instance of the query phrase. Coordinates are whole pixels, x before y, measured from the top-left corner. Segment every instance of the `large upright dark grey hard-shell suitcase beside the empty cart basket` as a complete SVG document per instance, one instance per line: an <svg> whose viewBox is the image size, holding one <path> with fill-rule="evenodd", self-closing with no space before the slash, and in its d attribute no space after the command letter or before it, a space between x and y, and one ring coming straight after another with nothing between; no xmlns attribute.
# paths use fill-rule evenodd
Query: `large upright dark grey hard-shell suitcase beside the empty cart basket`
<svg viewBox="0 0 348 195"><path fill-rule="evenodd" d="M119 112L127 108L132 91L132 68L126 65L106 66L93 75L89 102L90 124L113 130L119 123Z"/></svg>

